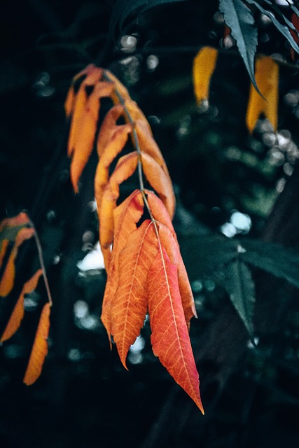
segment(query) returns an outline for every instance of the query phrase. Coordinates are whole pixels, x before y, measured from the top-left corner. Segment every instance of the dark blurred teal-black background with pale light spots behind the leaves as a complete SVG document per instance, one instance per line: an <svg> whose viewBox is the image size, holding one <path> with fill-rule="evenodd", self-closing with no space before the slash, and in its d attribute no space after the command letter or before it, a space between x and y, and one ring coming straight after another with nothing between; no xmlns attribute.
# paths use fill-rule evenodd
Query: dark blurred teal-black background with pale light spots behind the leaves
<svg viewBox="0 0 299 448"><path fill-rule="evenodd" d="M251 269L256 312L250 341L223 288L223 260L247 239L298 253L298 64L259 16L258 52L281 61L279 131L261 117L249 135L249 77L234 42L223 49L218 1L169 3L138 20L130 15L113 39L115 3L1 6L0 218L28 211L54 303L49 353L36 384L27 387L22 377L46 301L42 284L25 299L20 330L0 348L1 447L297 447L298 289ZM209 103L197 106L192 65L202 45L220 52ZM99 319L106 274L92 192L97 157L90 158L75 196L63 107L71 78L90 62L127 86L174 182L174 227L198 314L190 338L205 416L153 356L148 321L130 349L127 372ZM108 107L103 102L103 116ZM123 195L134 188L128 181ZM36 266L28 241L18 255L13 293L1 299L1 332Z"/></svg>

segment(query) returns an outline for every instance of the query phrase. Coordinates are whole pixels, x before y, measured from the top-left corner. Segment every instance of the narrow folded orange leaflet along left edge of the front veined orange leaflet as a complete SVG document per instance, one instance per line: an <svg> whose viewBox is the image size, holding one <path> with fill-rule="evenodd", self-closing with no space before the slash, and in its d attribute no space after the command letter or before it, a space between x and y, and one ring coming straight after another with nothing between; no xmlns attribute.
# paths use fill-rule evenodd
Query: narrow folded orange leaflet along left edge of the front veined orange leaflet
<svg viewBox="0 0 299 448"><path fill-rule="evenodd" d="M127 239L134 230L144 213L144 201L140 190L134 190L127 199L125 199L113 211L113 221L115 228L115 237L111 253L111 262L107 271L107 282L102 306L102 322L107 330L109 339L111 335L111 305L118 287L118 255L123 250Z"/></svg>

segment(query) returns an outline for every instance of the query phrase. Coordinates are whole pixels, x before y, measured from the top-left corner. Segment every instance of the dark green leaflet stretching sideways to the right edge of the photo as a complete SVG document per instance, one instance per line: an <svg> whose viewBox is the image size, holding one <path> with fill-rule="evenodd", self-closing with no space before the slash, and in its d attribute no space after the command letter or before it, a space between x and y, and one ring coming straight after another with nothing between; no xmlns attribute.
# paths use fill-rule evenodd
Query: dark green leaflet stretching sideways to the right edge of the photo
<svg viewBox="0 0 299 448"><path fill-rule="evenodd" d="M245 251L240 253L244 262L286 279L299 288L299 253L280 244L244 239Z"/></svg>

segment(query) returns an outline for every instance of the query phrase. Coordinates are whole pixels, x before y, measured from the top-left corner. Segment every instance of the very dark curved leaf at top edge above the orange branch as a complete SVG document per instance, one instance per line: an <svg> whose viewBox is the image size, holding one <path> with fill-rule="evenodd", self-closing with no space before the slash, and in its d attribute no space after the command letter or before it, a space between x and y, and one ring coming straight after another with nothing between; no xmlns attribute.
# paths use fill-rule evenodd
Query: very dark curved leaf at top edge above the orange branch
<svg viewBox="0 0 299 448"><path fill-rule="evenodd" d="M144 11L154 8L155 6L164 5L165 3L174 3L176 1L186 0L116 0L113 6L109 31L112 38L116 37L116 27L121 31L123 24L127 18L136 13L139 15Z"/></svg>

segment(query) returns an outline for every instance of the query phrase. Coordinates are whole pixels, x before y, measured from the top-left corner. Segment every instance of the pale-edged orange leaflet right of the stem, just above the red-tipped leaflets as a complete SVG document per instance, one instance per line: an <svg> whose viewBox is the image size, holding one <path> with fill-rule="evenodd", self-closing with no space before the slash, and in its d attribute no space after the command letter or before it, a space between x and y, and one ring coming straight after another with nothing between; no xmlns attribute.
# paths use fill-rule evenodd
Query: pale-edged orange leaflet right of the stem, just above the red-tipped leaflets
<svg viewBox="0 0 299 448"><path fill-rule="evenodd" d="M141 153L141 161L146 179L158 193L169 213L170 218L172 218L174 216L174 209L176 205L172 181L169 176L165 174L158 162L151 157L151 155Z"/></svg>

